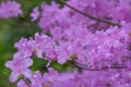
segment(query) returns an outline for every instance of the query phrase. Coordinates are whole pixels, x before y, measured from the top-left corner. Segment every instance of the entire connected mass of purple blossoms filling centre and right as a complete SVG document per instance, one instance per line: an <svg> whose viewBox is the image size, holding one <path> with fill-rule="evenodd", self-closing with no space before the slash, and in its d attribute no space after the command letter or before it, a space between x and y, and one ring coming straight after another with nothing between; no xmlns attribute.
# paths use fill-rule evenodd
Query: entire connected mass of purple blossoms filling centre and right
<svg viewBox="0 0 131 87"><path fill-rule="evenodd" d="M21 38L14 45L17 52L5 63L12 71L10 82L20 79L17 87L130 87L130 0L70 0L67 4L119 22L121 27L92 21L70 7L59 9L55 2L51 5L43 2L40 11L37 7L31 13L32 22L39 18L43 33L36 33L34 38ZM61 65L73 61L81 72L75 69L57 72L48 63L47 73L34 73L33 55Z"/></svg>

